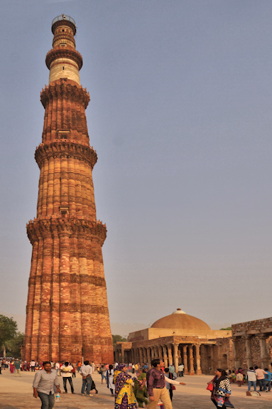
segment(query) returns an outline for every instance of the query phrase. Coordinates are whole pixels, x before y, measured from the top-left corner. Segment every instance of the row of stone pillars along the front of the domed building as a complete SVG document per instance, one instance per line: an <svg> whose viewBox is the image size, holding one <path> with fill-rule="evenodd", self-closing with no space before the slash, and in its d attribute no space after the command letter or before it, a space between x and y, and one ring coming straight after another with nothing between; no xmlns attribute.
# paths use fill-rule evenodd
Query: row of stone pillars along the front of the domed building
<svg viewBox="0 0 272 409"><path fill-rule="evenodd" d="M178 371L178 365L183 363L184 373L193 375L202 373L200 366L200 344L165 344L139 348L131 348L130 350L116 349L114 352L115 360L120 362L132 363L148 363L151 368L151 361L159 358L164 361L165 368L169 365L175 366L175 371Z"/></svg>

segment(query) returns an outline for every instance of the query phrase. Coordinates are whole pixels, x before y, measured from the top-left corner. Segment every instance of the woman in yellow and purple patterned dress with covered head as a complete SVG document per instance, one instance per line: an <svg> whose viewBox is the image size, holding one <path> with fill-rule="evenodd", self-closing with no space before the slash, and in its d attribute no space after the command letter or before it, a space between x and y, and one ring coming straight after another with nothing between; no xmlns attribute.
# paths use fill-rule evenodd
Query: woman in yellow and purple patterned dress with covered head
<svg viewBox="0 0 272 409"><path fill-rule="evenodd" d="M114 409L136 409L136 398L133 391L133 379L126 373L128 367L121 363L114 372L115 405Z"/></svg>

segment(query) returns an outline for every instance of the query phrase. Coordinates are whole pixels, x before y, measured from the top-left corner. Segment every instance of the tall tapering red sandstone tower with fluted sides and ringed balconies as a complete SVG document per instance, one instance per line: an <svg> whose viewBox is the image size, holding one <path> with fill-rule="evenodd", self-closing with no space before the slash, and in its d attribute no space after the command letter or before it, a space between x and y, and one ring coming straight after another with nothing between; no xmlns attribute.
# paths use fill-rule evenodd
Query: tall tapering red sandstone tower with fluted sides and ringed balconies
<svg viewBox="0 0 272 409"><path fill-rule="evenodd" d="M80 85L82 56L75 50L75 21L52 23L53 49L46 55L49 85L40 93L45 108L37 217L27 225L33 246L26 306L23 358L82 359L111 363L113 346L102 245L106 226L97 221L85 109L89 93Z"/></svg>

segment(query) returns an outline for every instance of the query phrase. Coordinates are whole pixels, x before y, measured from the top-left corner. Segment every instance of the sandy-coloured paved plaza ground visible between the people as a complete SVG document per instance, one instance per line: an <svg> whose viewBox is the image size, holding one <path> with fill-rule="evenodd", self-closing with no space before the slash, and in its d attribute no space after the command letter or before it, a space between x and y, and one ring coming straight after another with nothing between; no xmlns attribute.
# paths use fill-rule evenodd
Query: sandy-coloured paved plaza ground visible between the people
<svg viewBox="0 0 272 409"><path fill-rule="evenodd" d="M173 396L173 409L214 409L210 400L210 392L206 391L207 381L211 376L185 376L180 381L186 386L177 386ZM62 378L60 386L62 387ZM60 402L55 403L54 409L114 409L114 398L111 398L109 389L101 384L101 377L94 373L94 381L99 393L92 398L80 395L82 378L77 375L73 378L75 395L68 393L60 395ZM24 372L21 378L15 377L9 371L2 371L0 376L0 408L1 409L39 409L40 399L33 398L33 373ZM246 386L238 388L232 384L232 403L235 409L271 409L272 391L263 393L261 397L246 396Z"/></svg>

